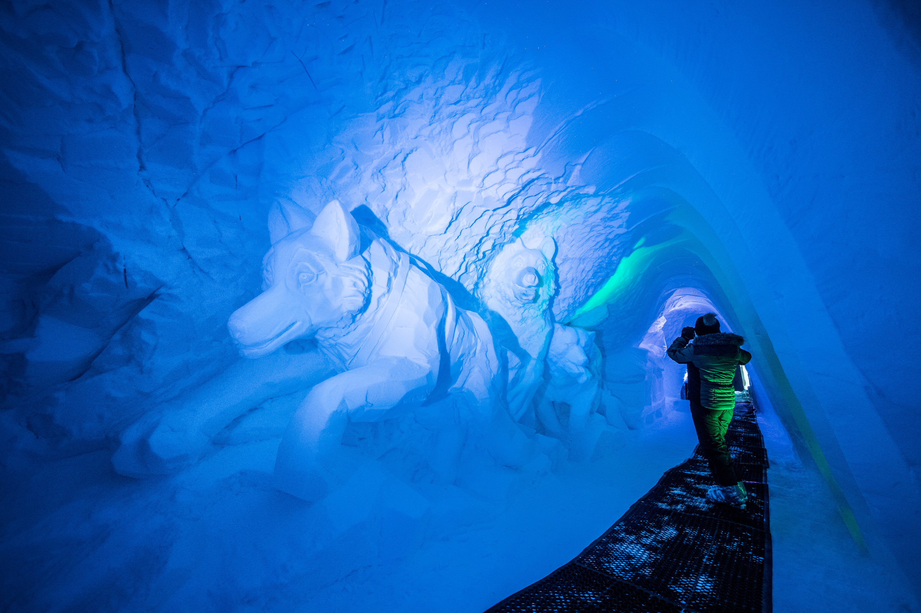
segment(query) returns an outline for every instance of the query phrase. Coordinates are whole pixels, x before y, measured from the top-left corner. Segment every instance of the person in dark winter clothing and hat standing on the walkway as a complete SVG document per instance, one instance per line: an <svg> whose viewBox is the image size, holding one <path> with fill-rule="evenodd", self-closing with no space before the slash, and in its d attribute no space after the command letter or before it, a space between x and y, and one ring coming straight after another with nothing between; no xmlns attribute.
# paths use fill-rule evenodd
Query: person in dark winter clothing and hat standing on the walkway
<svg viewBox="0 0 921 613"><path fill-rule="evenodd" d="M697 337L694 338L696 333ZM671 341L669 357L678 364L688 365L688 399L697 440L707 459L717 485L706 492L707 500L729 503L744 509L748 494L745 485L736 478L726 431L736 406L732 379L738 364L748 364L752 354L740 345L745 339L738 334L719 331L715 313L697 318L694 328L682 330Z"/></svg>

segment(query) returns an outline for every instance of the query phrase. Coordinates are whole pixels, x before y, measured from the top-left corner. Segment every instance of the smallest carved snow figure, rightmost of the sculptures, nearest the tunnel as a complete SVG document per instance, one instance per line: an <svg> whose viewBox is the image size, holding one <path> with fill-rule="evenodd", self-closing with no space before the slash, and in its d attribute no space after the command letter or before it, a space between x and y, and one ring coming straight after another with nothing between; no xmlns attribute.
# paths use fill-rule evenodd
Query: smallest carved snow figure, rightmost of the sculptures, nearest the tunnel
<svg viewBox="0 0 921 613"><path fill-rule="evenodd" d="M554 324L544 385L535 396L539 432L560 439L570 459L589 459L605 429L595 333Z"/></svg>

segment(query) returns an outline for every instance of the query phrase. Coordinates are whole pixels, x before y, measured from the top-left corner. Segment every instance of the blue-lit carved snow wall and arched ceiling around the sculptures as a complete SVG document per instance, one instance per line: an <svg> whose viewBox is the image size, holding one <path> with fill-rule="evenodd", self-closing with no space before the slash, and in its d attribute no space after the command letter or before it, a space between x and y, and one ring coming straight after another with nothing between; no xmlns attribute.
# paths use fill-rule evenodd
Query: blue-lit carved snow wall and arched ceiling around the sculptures
<svg viewBox="0 0 921 613"><path fill-rule="evenodd" d="M880 339L921 331L897 3L4 10L13 448L114 445L225 372L270 212L339 198L461 297L554 237L554 317L609 356L703 292L856 538L919 577L916 369Z"/></svg>

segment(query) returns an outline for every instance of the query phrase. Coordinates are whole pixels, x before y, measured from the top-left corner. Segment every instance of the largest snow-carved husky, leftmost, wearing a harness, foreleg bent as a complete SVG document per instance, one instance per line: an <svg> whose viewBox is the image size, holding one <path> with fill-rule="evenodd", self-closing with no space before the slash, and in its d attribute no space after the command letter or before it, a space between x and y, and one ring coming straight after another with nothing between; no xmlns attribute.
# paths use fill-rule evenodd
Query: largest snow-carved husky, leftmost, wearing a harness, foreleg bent
<svg viewBox="0 0 921 613"><path fill-rule="evenodd" d="M311 227L274 244L263 261L265 291L228 321L247 357L312 337L343 369L313 387L297 410L278 448L276 487L319 500L344 479L330 458L349 421L451 411L455 401L494 438L502 433L492 452L499 463L520 466L532 445L502 407L484 320L456 307L444 287L384 240L364 250L360 242L355 219L330 202Z"/></svg>

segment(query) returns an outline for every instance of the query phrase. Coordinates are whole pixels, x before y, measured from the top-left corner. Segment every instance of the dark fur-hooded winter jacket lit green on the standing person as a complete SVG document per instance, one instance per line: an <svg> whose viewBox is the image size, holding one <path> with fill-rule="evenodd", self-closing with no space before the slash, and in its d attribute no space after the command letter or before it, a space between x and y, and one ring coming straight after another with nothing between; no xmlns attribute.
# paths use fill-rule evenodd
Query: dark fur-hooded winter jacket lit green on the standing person
<svg viewBox="0 0 921 613"><path fill-rule="evenodd" d="M694 364L700 370L700 406L727 410L736 406L732 379L737 364L748 364L752 354L739 346L745 339L730 332L704 334L688 344L680 336L671 341L669 357L678 364Z"/></svg>

